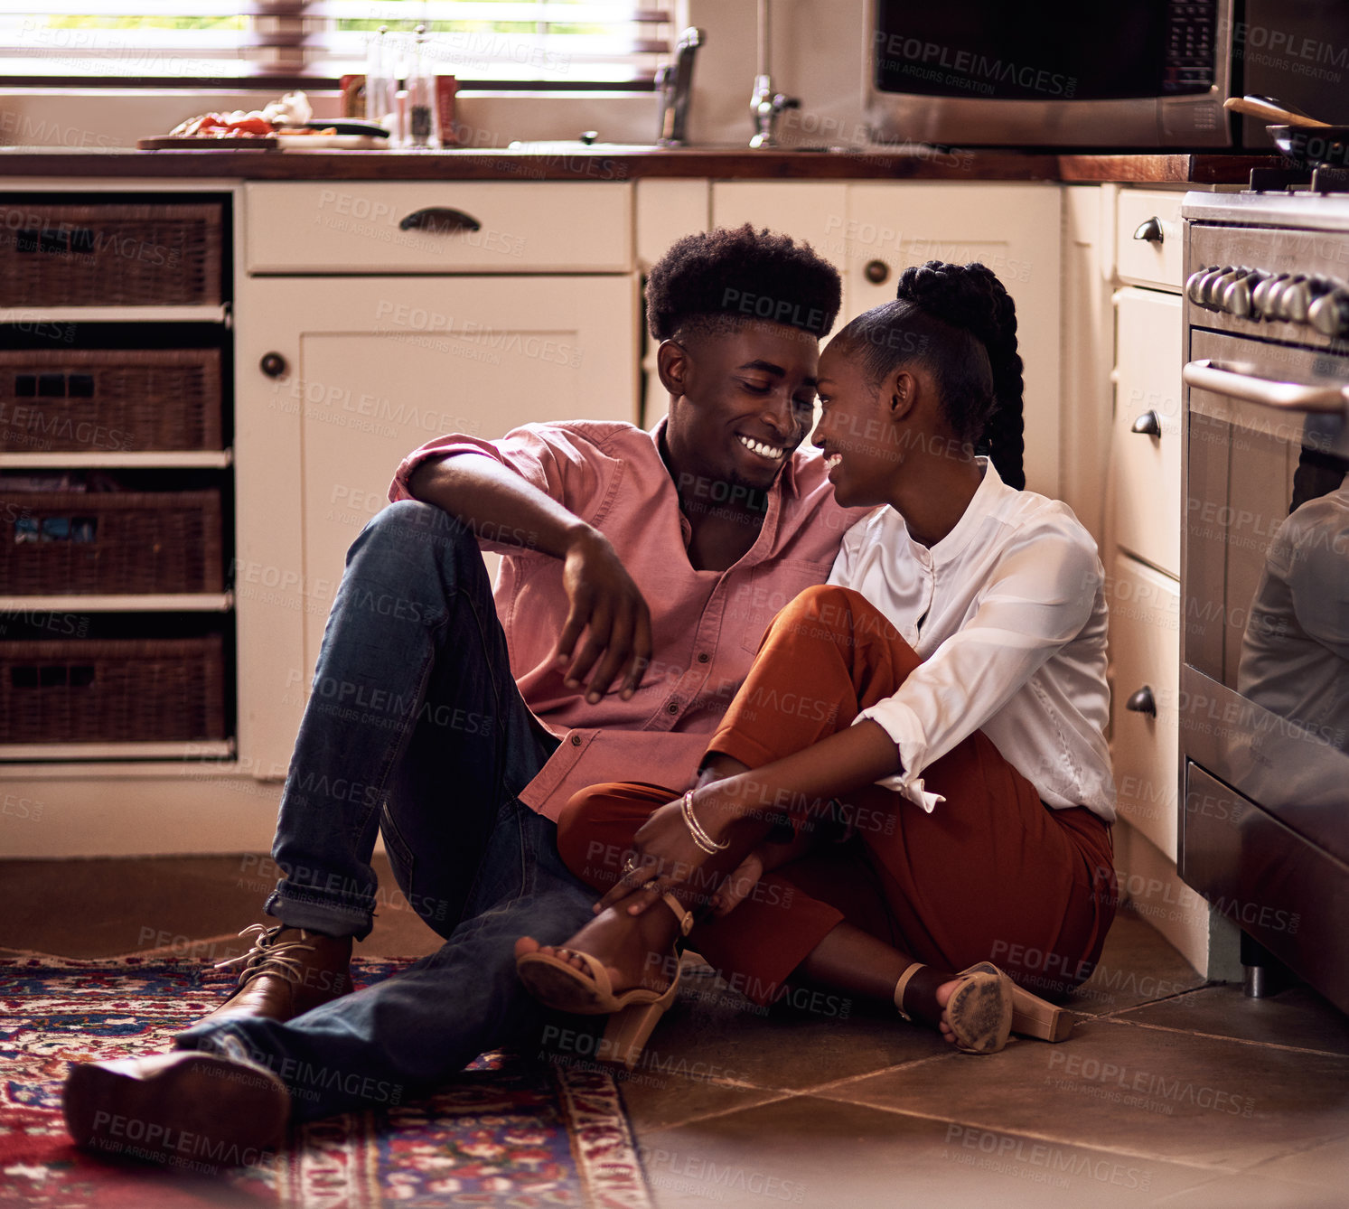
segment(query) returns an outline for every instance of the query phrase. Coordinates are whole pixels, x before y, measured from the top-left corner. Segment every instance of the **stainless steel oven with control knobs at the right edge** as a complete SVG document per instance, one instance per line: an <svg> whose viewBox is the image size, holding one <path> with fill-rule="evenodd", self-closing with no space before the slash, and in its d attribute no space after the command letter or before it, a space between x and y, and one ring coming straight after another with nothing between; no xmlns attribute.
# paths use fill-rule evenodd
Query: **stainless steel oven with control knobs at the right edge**
<svg viewBox="0 0 1349 1209"><path fill-rule="evenodd" d="M1179 872L1349 1011L1349 196L1182 213Z"/></svg>

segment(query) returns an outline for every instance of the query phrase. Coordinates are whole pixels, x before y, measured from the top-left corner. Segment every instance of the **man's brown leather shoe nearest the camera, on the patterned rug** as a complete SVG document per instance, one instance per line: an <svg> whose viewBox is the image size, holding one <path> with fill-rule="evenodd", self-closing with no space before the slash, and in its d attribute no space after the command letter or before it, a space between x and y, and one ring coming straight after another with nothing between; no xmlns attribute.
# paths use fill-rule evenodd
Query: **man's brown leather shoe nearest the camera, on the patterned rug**
<svg viewBox="0 0 1349 1209"><path fill-rule="evenodd" d="M76 1063L61 1109L82 1150L212 1173L267 1166L275 1158L290 1093L266 1067L175 1050Z"/></svg>

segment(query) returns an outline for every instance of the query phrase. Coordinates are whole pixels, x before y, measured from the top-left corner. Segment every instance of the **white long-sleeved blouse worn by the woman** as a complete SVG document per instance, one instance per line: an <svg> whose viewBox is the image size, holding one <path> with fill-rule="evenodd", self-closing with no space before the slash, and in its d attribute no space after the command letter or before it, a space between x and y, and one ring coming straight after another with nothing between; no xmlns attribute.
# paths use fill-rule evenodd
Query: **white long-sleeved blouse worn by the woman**
<svg viewBox="0 0 1349 1209"><path fill-rule="evenodd" d="M877 784L931 811L942 795L923 769L975 730L1052 807L1114 819L1105 726L1105 569L1067 505L1008 487L978 459L983 482L934 546L882 506L843 537L830 583L880 609L923 664L863 710L900 752Z"/></svg>

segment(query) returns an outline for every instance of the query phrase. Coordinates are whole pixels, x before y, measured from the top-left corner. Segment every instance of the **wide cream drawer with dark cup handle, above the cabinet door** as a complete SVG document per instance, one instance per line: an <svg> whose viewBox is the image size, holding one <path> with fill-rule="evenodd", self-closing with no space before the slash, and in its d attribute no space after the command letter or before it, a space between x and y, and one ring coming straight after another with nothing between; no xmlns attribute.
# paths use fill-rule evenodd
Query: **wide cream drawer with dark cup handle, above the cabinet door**
<svg viewBox="0 0 1349 1209"><path fill-rule="evenodd" d="M631 210L626 184L266 182L244 186L246 256L250 273L623 273Z"/></svg>

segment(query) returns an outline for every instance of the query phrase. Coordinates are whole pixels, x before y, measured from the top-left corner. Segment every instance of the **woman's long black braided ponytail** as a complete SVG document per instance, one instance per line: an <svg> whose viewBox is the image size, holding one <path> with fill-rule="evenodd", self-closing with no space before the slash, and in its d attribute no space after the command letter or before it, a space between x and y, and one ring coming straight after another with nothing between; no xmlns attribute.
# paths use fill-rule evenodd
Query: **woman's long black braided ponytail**
<svg viewBox="0 0 1349 1209"><path fill-rule="evenodd" d="M944 393L951 422L987 453L1010 487L1025 486L1025 421L1023 416L1021 358L1016 343L1016 306L993 270L978 262L927 264L900 274L896 297L934 318L973 333L987 352L993 397L971 398L959 375L946 374L955 387ZM954 367L952 367L954 368ZM943 382L943 386L946 383Z"/></svg>

